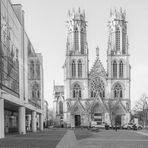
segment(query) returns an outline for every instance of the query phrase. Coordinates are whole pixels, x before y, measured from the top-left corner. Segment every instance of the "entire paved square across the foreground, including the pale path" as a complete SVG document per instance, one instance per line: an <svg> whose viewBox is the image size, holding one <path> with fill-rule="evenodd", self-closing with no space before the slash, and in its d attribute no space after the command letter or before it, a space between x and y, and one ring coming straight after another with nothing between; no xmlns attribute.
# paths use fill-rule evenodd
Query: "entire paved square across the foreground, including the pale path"
<svg viewBox="0 0 148 148"><path fill-rule="evenodd" d="M66 131L48 129L44 132L7 136L0 140L0 148L148 148L148 133L143 135L143 131Z"/></svg>

